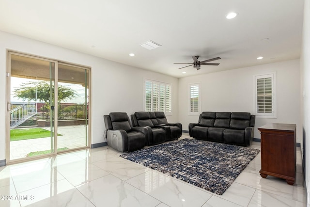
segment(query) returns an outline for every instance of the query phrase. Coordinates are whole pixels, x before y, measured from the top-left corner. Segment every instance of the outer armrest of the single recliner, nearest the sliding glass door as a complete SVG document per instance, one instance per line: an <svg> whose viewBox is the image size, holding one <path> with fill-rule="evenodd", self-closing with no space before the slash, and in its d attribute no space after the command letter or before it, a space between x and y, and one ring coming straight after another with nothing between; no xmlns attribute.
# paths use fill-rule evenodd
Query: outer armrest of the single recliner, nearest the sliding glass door
<svg viewBox="0 0 310 207"><path fill-rule="evenodd" d="M128 136L123 129L107 131L108 146L120 152L128 151Z"/></svg>

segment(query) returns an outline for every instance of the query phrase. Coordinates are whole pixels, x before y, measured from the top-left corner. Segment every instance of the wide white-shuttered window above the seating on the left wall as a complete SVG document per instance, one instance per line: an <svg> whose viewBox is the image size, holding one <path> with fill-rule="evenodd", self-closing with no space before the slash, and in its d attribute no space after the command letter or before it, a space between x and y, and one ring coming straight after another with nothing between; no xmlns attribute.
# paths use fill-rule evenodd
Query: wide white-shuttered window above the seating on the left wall
<svg viewBox="0 0 310 207"><path fill-rule="evenodd" d="M171 84L145 80L145 111L171 114Z"/></svg>

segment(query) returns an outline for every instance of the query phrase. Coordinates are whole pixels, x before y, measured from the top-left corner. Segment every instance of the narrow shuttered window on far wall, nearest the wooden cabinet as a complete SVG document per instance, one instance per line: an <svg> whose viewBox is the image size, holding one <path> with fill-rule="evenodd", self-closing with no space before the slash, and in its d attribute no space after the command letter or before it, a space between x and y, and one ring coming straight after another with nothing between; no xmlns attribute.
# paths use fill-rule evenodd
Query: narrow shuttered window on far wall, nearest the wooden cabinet
<svg viewBox="0 0 310 207"><path fill-rule="evenodd" d="M255 76L255 112L258 118L277 118L276 73Z"/></svg>

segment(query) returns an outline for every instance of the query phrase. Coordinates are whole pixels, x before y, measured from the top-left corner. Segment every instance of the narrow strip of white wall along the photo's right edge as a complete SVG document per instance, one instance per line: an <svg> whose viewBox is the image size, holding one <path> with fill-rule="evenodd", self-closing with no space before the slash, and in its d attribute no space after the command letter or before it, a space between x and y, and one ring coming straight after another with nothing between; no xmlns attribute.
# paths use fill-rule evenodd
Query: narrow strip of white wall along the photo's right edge
<svg viewBox="0 0 310 207"><path fill-rule="evenodd" d="M305 149L305 183L307 188L308 206L310 206L310 0L305 0L303 26L303 48L301 50L301 90L302 90L302 125L303 149Z"/></svg>

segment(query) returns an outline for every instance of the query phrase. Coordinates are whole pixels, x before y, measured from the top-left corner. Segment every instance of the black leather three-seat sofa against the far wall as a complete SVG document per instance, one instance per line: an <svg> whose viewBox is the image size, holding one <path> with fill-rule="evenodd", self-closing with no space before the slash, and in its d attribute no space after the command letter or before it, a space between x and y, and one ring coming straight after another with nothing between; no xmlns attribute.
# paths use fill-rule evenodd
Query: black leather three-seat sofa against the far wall
<svg viewBox="0 0 310 207"><path fill-rule="evenodd" d="M188 125L190 137L242 146L252 143L255 115L248 112L202 112L198 122Z"/></svg>

